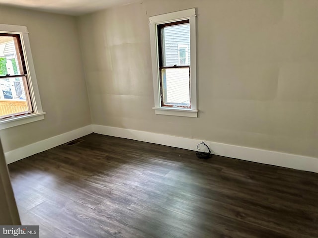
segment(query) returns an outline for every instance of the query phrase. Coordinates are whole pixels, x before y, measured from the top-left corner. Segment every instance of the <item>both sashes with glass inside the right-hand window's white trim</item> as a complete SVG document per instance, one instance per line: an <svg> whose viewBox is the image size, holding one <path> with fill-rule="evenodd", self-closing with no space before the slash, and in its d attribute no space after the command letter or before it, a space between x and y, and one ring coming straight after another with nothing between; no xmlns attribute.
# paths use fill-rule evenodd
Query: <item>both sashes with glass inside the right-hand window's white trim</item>
<svg viewBox="0 0 318 238"><path fill-rule="evenodd" d="M189 20L159 25L161 106L190 108Z"/></svg>

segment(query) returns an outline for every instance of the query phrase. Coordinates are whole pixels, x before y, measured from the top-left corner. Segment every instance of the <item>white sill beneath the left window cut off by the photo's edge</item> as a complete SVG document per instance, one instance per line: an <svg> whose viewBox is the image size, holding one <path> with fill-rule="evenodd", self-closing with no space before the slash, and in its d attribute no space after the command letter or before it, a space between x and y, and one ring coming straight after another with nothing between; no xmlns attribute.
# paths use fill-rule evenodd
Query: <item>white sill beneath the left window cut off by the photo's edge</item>
<svg viewBox="0 0 318 238"><path fill-rule="evenodd" d="M37 120L43 120L45 113L36 113L17 118L8 118L0 120L0 130L10 128L17 125L23 125L26 123L34 122Z"/></svg>

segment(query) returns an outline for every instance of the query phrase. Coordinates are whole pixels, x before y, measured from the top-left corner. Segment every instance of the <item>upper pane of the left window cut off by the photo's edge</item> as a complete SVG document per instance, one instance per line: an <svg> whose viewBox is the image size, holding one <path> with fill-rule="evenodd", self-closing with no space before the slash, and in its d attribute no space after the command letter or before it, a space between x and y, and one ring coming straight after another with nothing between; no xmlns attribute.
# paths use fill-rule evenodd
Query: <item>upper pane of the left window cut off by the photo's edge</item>
<svg viewBox="0 0 318 238"><path fill-rule="evenodd" d="M23 68L17 47L17 38L0 36L0 76L21 75Z"/></svg>

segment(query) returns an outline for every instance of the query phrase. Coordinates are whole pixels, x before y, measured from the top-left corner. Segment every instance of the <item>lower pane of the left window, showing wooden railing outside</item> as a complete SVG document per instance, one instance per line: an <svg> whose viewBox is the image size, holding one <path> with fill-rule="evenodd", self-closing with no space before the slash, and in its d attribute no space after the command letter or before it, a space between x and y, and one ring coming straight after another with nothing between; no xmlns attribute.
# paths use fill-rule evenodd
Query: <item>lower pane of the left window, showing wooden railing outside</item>
<svg viewBox="0 0 318 238"><path fill-rule="evenodd" d="M0 79L0 117L30 112L26 77Z"/></svg>

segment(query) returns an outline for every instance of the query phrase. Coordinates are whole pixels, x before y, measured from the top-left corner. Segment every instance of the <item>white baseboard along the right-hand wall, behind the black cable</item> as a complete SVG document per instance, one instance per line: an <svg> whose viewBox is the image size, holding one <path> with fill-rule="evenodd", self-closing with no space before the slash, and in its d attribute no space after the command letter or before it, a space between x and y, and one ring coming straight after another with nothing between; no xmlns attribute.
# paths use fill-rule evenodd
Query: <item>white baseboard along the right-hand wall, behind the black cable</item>
<svg viewBox="0 0 318 238"><path fill-rule="evenodd" d="M134 139L189 150L197 150L197 144L201 142L201 140L198 139L177 137L171 135L164 135L146 131L131 130L103 125L92 125L92 131L103 135ZM318 158L248 148L211 141L205 141L205 143L217 155L318 173Z"/></svg>

